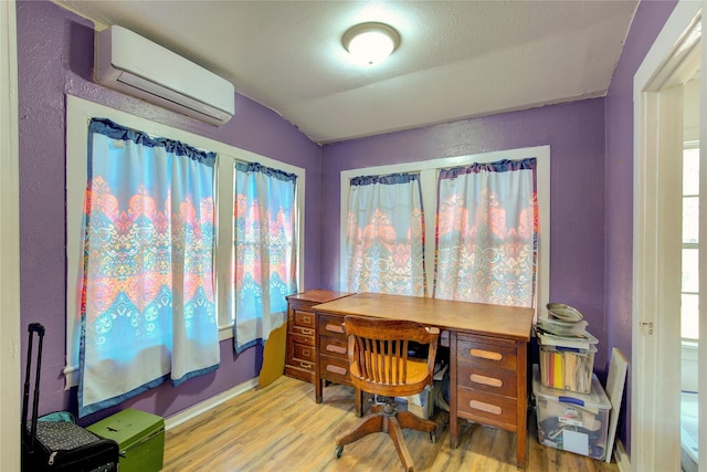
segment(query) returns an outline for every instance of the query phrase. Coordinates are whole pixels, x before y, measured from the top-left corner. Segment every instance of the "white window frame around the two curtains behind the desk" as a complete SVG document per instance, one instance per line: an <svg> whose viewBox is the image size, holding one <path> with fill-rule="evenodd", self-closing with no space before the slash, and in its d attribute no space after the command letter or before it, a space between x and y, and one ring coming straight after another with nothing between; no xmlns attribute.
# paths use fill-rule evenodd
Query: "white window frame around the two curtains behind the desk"
<svg viewBox="0 0 707 472"><path fill-rule="evenodd" d="M539 229L538 229L538 256L537 256L537 280L532 298L536 301L536 316L538 313L537 307L545 306L548 302L548 287L549 287L549 214L550 214L550 148L549 146L540 146L534 148L513 149L507 151L487 153L472 156L458 156L444 159L434 159L422 162L409 162L403 165L380 166L366 169L352 169L341 172L341 261L347 261L350 255L350 245L347 244L346 239L347 229L349 222L347 217L349 214L349 201L350 192L352 191L351 182L360 176L388 176L393 174L415 174L419 175L419 180L422 188L422 213L423 213L423 252L424 252L424 277L425 285L428 287L434 286L434 261L436 250L435 234L435 218L436 211L440 208L437 199L437 177L442 169L454 168L458 166L469 166L474 162L496 162L499 160L523 160L527 158L537 159L537 203L539 213ZM344 262L341 264L341 286L345 290L348 289L348 264ZM431 294L428 293L428 296Z"/></svg>

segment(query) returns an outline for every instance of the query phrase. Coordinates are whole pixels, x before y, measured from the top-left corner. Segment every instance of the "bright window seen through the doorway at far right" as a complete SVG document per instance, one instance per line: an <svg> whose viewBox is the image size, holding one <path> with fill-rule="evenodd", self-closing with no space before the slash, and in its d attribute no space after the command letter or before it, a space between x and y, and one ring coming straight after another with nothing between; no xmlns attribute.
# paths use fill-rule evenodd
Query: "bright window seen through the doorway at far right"
<svg viewBox="0 0 707 472"><path fill-rule="evenodd" d="M699 337L699 143L683 150L682 336Z"/></svg>

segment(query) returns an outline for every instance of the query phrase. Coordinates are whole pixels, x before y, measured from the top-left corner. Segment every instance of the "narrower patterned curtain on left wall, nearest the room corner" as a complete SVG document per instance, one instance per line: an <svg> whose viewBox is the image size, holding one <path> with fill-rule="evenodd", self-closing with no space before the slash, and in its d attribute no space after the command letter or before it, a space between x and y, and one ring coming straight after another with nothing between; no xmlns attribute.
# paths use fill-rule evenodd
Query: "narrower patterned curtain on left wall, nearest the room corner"
<svg viewBox="0 0 707 472"><path fill-rule="evenodd" d="M236 353L258 343L285 322L285 296L297 292L297 176L260 164L235 164Z"/></svg>

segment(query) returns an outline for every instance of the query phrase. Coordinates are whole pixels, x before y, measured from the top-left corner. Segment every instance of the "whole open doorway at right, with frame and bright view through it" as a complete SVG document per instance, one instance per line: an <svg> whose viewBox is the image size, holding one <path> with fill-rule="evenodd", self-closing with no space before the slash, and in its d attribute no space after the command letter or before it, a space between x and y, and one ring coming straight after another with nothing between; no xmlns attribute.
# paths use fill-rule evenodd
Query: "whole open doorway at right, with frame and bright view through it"
<svg viewBox="0 0 707 472"><path fill-rule="evenodd" d="M634 77L633 470L698 471L707 424L707 2L678 3ZM695 103L696 102L696 103ZM694 105L694 106L693 106ZM701 156L701 158L700 158ZM692 210L692 211L690 211ZM699 230L698 230L699 229ZM703 271L705 272L705 271ZM683 411L683 416L680 416ZM701 419L703 421L699 421ZM704 429L704 428L703 428ZM701 433L701 440L699 436ZM701 470L707 470L703 454Z"/></svg>

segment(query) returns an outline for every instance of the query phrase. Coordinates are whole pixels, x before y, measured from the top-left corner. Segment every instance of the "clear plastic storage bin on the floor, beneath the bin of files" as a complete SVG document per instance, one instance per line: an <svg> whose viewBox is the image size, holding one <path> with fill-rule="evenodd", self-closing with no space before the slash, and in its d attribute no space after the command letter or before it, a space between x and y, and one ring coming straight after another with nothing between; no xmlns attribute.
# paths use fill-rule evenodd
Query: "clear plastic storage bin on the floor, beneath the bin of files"
<svg viewBox="0 0 707 472"><path fill-rule="evenodd" d="M595 375L589 395L562 395L540 384L540 369L534 365L532 394L538 442L598 460L606 457L611 403Z"/></svg>

